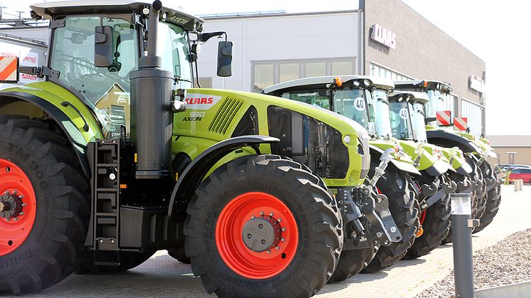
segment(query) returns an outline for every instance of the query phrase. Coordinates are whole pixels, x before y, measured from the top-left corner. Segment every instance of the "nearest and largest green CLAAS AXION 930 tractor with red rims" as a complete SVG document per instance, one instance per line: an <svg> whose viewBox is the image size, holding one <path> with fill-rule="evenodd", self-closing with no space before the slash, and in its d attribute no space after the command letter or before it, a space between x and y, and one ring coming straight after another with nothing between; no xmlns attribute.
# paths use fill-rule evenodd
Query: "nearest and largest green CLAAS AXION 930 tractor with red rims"
<svg viewBox="0 0 531 298"><path fill-rule="evenodd" d="M31 9L50 22L46 64L1 58L15 66L10 83L43 80L0 90L0 292L123 272L169 250L220 297L310 297L340 255L357 264L401 240L387 197L363 183L361 125L193 88L211 38L218 75L231 75L223 31L160 1Z"/></svg>

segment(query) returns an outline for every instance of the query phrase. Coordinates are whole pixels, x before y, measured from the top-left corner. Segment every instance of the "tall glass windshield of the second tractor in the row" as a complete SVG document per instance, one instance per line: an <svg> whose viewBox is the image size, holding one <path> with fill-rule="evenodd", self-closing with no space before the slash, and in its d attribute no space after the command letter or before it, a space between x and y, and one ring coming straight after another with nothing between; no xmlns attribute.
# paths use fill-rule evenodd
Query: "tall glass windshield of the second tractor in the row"
<svg viewBox="0 0 531 298"><path fill-rule="evenodd" d="M389 120L389 100L387 92L381 89L369 92L366 90L369 117L374 122L376 134L381 139L391 138L391 122Z"/></svg>

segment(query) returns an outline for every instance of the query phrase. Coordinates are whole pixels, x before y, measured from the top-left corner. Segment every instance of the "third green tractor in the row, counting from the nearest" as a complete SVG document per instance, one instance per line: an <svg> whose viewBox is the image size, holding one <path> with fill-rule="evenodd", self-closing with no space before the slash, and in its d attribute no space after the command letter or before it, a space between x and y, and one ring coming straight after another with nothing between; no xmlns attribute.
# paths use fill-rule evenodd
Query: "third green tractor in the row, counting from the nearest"
<svg viewBox="0 0 531 298"><path fill-rule="evenodd" d="M401 139L402 146L406 151L414 154L413 151L431 151L433 156L436 156L438 159L446 162L451 165L451 168L448 169L447 174L443 175L443 179L447 181L452 181L455 183L454 191L456 193L471 193L473 197L473 210L477 210L477 196L475 196L475 191L478 191L480 185L478 183L472 183L471 181L473 174L471 166L467 163L463 151L458 147L441 148L433 144L428 143L426 137L426 119L424 117L424 105L429 102L428 96L421 92L414 91L394 91L389 96L389 105L390 105L390 117L391 117L391 127L393 129L393 136ZM422 167L421 165L419 165ZM448 196L448 194L447 194ZM444 201L448 201L449 197ZM446 206L445 208L448 208ZM438 212L447 212L446 209L441 206L441 210ZM421 207L421 210L423 208ZM449 222L447 220L442 220L446 218L448 214L444 215L436 213L437 208L431 210L422 210L420 219L422 228L426 228L431 225L440 225L440 230L443 228L449 227ZM444 211L443 211L444 210ZM435 213L434 213L435 212ZM475 215L475 213L473 213ZM433 233L433 229L429 229ZM438 237L443 242L451 239L451 229L448 229L448 235L446 238L443 238L443 234L438 233ZM422 235L419 239L416 240L416 243L422 243L429 241L429 239L434 239L435 236L427 237ZM441 239L442 238L442 239ZM427 248L424 249L425 252L429 252L438 246L438 243L432 242L430 245L426 245ZM419 253L418 255L423 255L424 253Z"/></svg>

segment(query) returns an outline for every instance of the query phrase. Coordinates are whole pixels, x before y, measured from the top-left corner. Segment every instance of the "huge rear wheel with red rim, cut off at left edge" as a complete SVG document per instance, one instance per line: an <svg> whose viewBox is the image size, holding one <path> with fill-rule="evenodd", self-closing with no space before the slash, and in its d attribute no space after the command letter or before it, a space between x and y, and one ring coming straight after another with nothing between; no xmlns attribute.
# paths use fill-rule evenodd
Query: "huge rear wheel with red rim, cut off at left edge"
<svg viewBox="0 0 531 298"><path fill-rule="evenodd" d="M85 253L89 183L51 125L3 115L0 139L0 292L37 292Z"/></svg>

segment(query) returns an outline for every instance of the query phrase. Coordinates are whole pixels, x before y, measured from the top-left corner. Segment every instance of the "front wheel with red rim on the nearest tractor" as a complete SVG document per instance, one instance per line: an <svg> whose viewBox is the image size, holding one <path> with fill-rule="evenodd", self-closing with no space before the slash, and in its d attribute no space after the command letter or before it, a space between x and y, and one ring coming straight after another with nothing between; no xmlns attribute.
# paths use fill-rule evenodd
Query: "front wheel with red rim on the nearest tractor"
<svg viewBox="0 0 531 298"><path fill-rule="evenodd" d="M334 198L300 164L244 156L196 191L184 225L186 255L220 297L310 297L342 249Z"/></svg>

